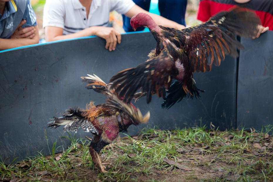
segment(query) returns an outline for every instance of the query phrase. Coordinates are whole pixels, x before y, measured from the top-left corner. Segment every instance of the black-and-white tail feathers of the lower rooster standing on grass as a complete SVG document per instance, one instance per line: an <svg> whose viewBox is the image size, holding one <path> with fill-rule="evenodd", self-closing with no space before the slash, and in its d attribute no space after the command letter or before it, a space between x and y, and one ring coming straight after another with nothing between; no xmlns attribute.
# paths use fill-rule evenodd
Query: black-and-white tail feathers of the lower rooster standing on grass
<svg viewBox="0 0 273 182"><path fill-rule="evenodd" d="M48 127L57 128L61 125L64 125L64 132L74 133L77 133L79 127L81 127L84 132L98 134L98 131L93 126L93 124L82 116L82 112L84 111L82 111L82 109L79 107L74 109L69 108L65 113L63 113L62 117L54 117L53 119L50 119Z"/></svg>

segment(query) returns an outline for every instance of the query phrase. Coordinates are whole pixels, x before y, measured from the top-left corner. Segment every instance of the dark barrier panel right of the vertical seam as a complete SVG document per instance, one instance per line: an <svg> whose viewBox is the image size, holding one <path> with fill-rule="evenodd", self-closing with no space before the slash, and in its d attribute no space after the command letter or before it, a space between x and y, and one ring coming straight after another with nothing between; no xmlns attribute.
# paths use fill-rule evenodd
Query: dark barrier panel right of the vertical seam
<svg viewBox="0 0 273 182"><path fill-rule="evenodd" d="M241 42L237 126L260 130L273 124L273 31Z"/></svg>

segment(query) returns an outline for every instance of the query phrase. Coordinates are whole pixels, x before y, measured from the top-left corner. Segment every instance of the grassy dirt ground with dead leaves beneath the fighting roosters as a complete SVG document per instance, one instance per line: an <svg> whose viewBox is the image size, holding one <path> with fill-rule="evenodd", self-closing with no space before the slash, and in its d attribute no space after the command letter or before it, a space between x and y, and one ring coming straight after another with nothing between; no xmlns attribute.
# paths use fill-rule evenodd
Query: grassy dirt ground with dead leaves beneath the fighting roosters
<svg viewBox="0 0 273 182"><path fill-rule="evenodd" d="M106 166L106 170L110 171L108 173L100 173L94 168L90 158L86 158L85 154L89 156L88 152L85 153L88 151L88 146L83 148L79 146L77 150L72 150L66 156L69 162L65 164L61 173L50 171L50 168L41 171L41 166L33 166L33 159L16 164L14 168L16 175L11 173L12 178L0 175L0 181L273 181L272 136L254 133L240 141L235 139L234 134L221 134L223 132L220 131L207 133L209 137L218 135L221 139L209 145L190 141L180 145L179 141L180 147L176 149L178 155L173 157L170 154L169 157L160 160L160 164L151 162L147 165L145 160L140 161L139 156L136 156L138 152L145 153L145 151L136 152L130 146L139 145L139 141L145 138L145 140L157 142L154 144L152 142L145 147L156 148L166 142L166 137L173 135L171 132L161 136L149 134L118 138L100 153L102 162L109 163ZM240 131L235 133L238 134ZM196 138L196 141L198 140ZM232 148L234 142L237 145ZM52 159L58 161L62 155L58 153L54 155L54 159L52 156L41 157L41 159L43 163ZM121 156L124 156L124 160L120 160ZM50 166L50 163L46 165ZM27 170L28 174L23 174L23 170ZM18 177L18 174L21 176Z"/></svg>

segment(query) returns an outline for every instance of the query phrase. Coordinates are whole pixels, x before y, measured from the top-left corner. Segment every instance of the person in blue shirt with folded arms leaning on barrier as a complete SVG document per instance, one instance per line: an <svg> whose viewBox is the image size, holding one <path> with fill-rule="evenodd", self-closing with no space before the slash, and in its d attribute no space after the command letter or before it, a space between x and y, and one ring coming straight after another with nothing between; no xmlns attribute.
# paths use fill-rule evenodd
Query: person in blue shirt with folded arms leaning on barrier
<svg viewBox="0 0 273 182"><path fill-rule="evenodd" d="M30 0L0 0L0 50L39 43Z"/></svg>

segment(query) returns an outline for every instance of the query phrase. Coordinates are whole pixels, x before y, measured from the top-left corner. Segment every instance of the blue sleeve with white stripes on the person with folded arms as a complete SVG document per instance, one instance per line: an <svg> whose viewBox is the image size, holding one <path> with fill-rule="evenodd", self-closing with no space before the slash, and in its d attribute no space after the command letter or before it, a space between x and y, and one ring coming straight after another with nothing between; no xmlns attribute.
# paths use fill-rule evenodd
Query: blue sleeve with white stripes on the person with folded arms
<svg viewBox="0 0 273 182"><path fill-rule="evenodd" d="M23 20L26 20L26 23L23 24L22 28L30 27L30 26L36 26L37 21L36 21L36 15L32 9L30 0L26 1L26 9L25 13L23 16Z"/></svg>

